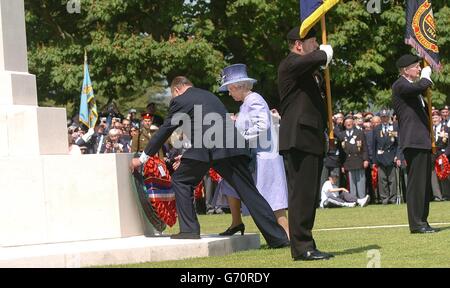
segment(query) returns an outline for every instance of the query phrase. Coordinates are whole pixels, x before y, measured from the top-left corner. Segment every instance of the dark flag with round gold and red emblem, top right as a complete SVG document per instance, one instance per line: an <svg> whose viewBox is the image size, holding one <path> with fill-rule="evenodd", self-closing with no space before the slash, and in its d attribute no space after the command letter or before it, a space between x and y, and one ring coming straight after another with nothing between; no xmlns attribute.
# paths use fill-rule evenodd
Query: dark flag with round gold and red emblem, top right
<svg viewBox="0 0 450 288"><path fill-rule="evenodd" d="M417 50L435 70L440 70L439 47L436 40L436 24L431 1L406 1L406 44Z"/></svg>

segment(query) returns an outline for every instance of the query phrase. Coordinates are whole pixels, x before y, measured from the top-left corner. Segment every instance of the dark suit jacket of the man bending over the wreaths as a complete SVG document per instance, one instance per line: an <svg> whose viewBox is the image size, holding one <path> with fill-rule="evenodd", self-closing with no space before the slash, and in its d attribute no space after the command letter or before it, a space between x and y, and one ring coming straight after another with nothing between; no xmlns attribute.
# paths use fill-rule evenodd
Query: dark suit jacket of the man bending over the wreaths
<svg viewBox="0 0 450 288"><path fill-rule="evenodd" d="M157 153L172 132L181 126L183 133L192 144L192 148L184 152L183 158L210 162L238 155L249 156L249 150L245 148L245 140L236 131L234 122L230 115L226 115L227 113L227 109L216 95L191 87L182 95L172 99L167 118L150 139L144 152L147 155ZM221 135L223 137L217 134L215 138L209 137L213 132L212 127L217 128L218 133L223 133ZM208 134L205 135L205 132ZM203 141L204 136L205 139L213 138L213 141ZM237 146L238 143L239 146Z"/></svg>

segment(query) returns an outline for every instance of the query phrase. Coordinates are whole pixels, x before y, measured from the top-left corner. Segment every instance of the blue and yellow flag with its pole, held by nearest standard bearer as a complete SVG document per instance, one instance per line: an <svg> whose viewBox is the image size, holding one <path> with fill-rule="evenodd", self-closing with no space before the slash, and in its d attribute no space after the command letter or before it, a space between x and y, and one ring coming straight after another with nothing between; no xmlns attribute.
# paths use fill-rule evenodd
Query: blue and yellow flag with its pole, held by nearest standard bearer
<svg viewBox="0 0 450 288"><path fill-rule="evenodd" d="M314 27L314 25L321 21L322 26L322 44L327 44L327 29L325 24L325 14L334 5L336 5L339 0L300 0L300 18L302 24L300 26L300 38L306 36L309 30ZM331 101L331 82L330 82L330 69L327 67L325 69L325 85L326 85L326 96L327 96L327 111L328 111L328 127L329 127L329 143L334 144L334 133L333 133L333 108Z"/></svg>

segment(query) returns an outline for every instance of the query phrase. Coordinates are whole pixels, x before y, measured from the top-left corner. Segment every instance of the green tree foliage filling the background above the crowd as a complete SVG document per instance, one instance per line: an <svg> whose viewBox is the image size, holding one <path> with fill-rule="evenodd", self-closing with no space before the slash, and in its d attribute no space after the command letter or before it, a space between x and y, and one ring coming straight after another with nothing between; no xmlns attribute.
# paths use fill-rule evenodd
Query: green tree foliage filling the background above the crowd
<svg viewBox="0 0 450 288"><path fill-rule="evenodd" d="M436 106L448 103L450 90L450 8L444 2L433 1L444 64L433 74ZM381 3L379 14L369 13L363 0L341 1L327 14L337 108L390 104L395 60L411 48L404 44L404 1ZM276 107L277 67L288 53L285 35L299 24L297 0L82 0L81 14L67 13L66 0L25 4L30 71L37 75L40 103L52 99L75 107L84 49L101 103L138 101L143 107L148 99L142 95L163 92L166 81L180 74L217 92L223 67L245 63L258 79L255 89ZM236 108L230 97L222 99Z"/></svg>

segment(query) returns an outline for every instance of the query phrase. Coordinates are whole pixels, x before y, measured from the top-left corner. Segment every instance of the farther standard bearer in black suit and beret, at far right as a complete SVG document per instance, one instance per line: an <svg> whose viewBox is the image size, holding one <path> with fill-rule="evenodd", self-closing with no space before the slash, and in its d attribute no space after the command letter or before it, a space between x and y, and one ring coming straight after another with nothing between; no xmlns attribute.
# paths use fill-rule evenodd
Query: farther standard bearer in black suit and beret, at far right
<svg viewBox="0 0 450 288"><path fill-rule="evenodd" d="M401 76L392 85L392 94L398 116L399 144L408 171L406 203L409 229L411 233L433 233L436 230L427 222L431 197L430 119L422 96L433 82L431 68L421 69L420 60L409 54L397 60Z"/></svg>

